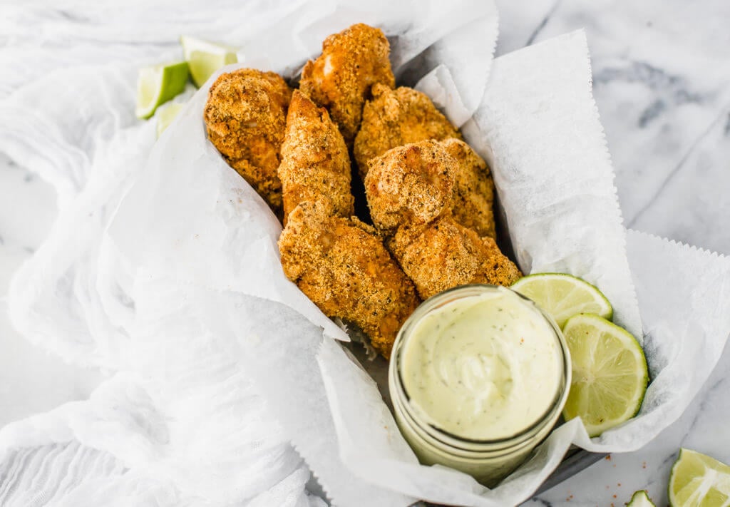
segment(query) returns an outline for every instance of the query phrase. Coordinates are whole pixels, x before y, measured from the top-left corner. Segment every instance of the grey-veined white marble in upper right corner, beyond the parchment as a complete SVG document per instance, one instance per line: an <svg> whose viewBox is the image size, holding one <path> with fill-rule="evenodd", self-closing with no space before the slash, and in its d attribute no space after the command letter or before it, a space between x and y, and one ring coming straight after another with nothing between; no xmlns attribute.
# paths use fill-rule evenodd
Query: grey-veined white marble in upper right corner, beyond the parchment
<svg viewBox="0 0 730 507"><path fill-rule="evenodd" d="M730 4L498 6L498 53L585 28L626 226L729 253Z"/></svg>

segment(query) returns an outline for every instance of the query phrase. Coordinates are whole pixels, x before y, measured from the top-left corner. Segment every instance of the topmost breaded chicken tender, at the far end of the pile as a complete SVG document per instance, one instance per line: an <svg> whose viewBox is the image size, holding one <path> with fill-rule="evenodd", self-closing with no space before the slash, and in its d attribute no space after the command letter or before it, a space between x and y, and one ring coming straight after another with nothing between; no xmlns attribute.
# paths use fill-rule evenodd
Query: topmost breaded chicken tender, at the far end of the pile
<svg viewBox="0 0 730 507"><path fill-rule="evenodd" d="M372 85L396 85L390 51L380 28L358 23L327 37L322 55L308 61L301 72L299 88L329 110L348 146L355 139Z"/></svg>

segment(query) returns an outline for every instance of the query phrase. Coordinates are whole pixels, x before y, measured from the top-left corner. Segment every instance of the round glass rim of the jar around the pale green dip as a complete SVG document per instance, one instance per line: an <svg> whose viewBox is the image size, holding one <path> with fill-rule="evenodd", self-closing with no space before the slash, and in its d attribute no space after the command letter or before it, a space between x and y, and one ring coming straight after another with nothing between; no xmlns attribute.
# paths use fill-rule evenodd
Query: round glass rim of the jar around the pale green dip
<svg viewBox="0 0 730 507"><path fill-rule="evenodd" d="M561 382L560 384L558 384L558 389L556 389L555 396L553 397L553 400L550 402L550 405L548 405L548 408L545 410L545 412L537 417L534 422L518 430L517 432L511 435L506 435L504 437L491 439L466 438L461 435L456 435L452 432L448 432L447 430L443 430L442 428L438 427L437 424L433 424L431 422L423 421L423 424L418 424L421 422L421 420L416 417L415 414L412 412L410 395L407 392L407 389L403 382L403 378L401 376L401 349L403 348L404 343L407 342L407 338L410 336L407 333L412 330L412 328L415 326L416 323L418 323L418 321L420 321L420 319L429 314L432 310L440 308L441 305L439 305L439 303L445 305L449 302L453 302L455 299L458 299L458 297L454 298L454 293L464 293L463 295L461 295L461 297L470 297L484 294L485 289L488 289L489 291L492 291L494 289L506 290L510 291L512 294L517 294L521 300L529 302L531 305L533 305L534 308L545 318L545 321L548 322L550 329L553 330L553 335L556 339L556 342L558 343L558 348L560 349L560 359L562 362ZM500 447L502 447L505 444L510 443L516 446L520 443L523 443L523 441L529 440L529 438L537 434L542 429L542 427L544 427L546 422L549 422L554 418L554 416L556 416L556 411L559 412L562 410L569 391L572 373L570 352L567 343L565 342L565 338L554 319L550 315L548 315L545 310L542 310L542 308L540 308L539 305L537 305L529 297L526 297L523 294L520 294L519 292L510 289L509 287L494 286L486 283L472 283L456 286L452 289L447 289L445 291L439 292L439 294L435 294L434 296L429 297L429 299L423 301L418 306L418 308L415 309L411 316L405 321L405 323L399 330L398 335L396 336L396 340L393 343L393 355L391 357L390 367L391 370L394 370L393 380L396 381L396 389L398 389L405 398L404 403L402 403L401 406L402 410L404 411L404 415L407 415L409 419L412 419L412 422L423 427L423 431L427 432L427 434L429 434L431 438L434 438L434 440L446 446L454 447L456 449L461 449L461 446L458 445L459 443L471 444L472 446L477 447L492 447L501 444ZM393 397L393 403L396 403L397 394L398 393L391 393L391 397Z"/></svg>

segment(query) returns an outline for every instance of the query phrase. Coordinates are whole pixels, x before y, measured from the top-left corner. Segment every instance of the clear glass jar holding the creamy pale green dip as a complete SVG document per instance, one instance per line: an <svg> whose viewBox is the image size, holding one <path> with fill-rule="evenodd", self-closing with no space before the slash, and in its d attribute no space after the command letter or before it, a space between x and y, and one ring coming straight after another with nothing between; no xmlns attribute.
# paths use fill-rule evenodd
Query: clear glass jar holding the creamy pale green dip
<svg viewBox="0 0 730 507"><path fill-rule="evenodd" d="M514 295L517 297L514 297ZM523 313L523 315L529 316L529 319L534 319L534 322L539 325L544 324L544 327L540 327L539 329L536 327L535 329L542 332L542 337L540 337L539 340L553 340L550 342L550 347L553 347L550 350L554 351L553 359L556 361L554 365L548 365L549 367L547 370L550 374L550 378L548 379L549 382L542 382L543 385L554 385L554 392L550 392L551 396L549 398L543 398L542 401L532 400L536 402L536 406L541 407L542 405L545 405L547 406L547 409L542 413L534 414L532 419L522 420L520 424L518 424L518 427L515 427L515 432L510 435L504 434L503 429L498 438L473 438L472 435L465 437L464 434L458 435L458 432L453 429L450 431L443 429L445 424L441 424L439 422L439 417L434 417L433 413L434 410L438 409L438 404L434 401L434 406L436 406L436 408L431 408L431 413L424 411L423 407L417 403L412 403L412 399L407 392L407 382L404 383L404 365L402 364L404 361L404 351L410 347L411 340L415 340L415 345L418 345L421 348L423 348L425 343L425 340L420 338L424 335L423 329L419 328L420 324L425 323L423 324L426 326L424 329L426 329L425 332L428 333L429 328L427 326L430 325L429 319L437 318L439 316L439 311L444 314L446 314L447 310L449 312L456 312L453 308L457 308L458 303L471 304L472 300L478 302L478 299L475 298L479 297L483 297L485 300L489 300L492 297L508 297L509 305L515 305L515 307L512 307L514 310L531 312ZM466 300L464 298L472 299ZM523 306L520 308L520 305ZM472 306L472 308L475 308L475 306ZM502 312L502 310L499 311ZM486 315L486 313L484 314ZM496 315L502 315L502 313ZM510 313L510 315L515 315L515 326L518 325L518 311ZM464 316L466 316L466 313L464 313ZM426 319L427 317L429 317L429 319ZM452 317L452 319L458 318L460 317ZM426 319L426 321L424 321L424 319ZM466 319L466 317L464 317L464 319ZM481 324L483 323L480 323L480 325ZM504 324L505 327L500 327L500 330L502 331L503 329L507 329L507 331L510 331L510 329L506 327L507 325L508 324ZM487 339L485 337L488 337L488 334L490 333L489 328L491 327L494 326L481 325L481 327L478 327L480 334L479 337L477 337L477 340L482 338ZM439 327L434 329L439 329ZM450 329L454 329L453 326ZM461 327L457 329L464 328ZM497 328L494 327L494 329ZM518 328L515 327L515 329ZM442 333L443 332L445 331L442 331ZM414 336L417 338L413 338ZM499 340L499 338L489 339ZM418 343L418 340L421 340L421 343ZM439 340L441 340L441 338L439 338ZM474 342L474 340L466 341L467 345ZM515 345L515 343L517 344ZM514 348L521 346L522 344L520 341L515 343L507 343L507 345L502 344L503 348L499 350L504 351L504 354L510 356L509 347ZM415 347L415 345L413 346ZM505 346L507 346L507 349L504 348ZM409 352L408 354L411 353ZM458 357L458 354L468 353L459 351L456 353L455 357ZM522 352L520 352L520 354L522 354ZM454 353L449 352L449 355L451 357ZM431 356L428 357L433 359L434 354L431 354ZM437 359L438 358L435 358L434 360ZM502 359L499 359L499 361L502 361ZM516 366L520 369L520 372L531 372L533 371L533 367L537 367L537 370L540 370L540 367L542 367L542 370L545 370L544 362L548 360L544 354L542 357L538 354L534 354L534 357L529 357L526 360L522 359L525 358L522 357L521 359L515 359L510 356L507 357L506 362L502 361L502 364L507 365L509 363L510 366L514 366L513 363L515 363L515 361L521 360L520 365ZM543 364L538 365L535 363L539 361L543 361ZM529 362L533 363L530 364ZM423 362L423 364L426 365L424 367L437 368L435 365L431 366L431 363L431 360ZM504 384L504 379L507 378L507 382L510 383L509 389L516 389L515 393L519 393L515 394L515 398L518 398L520 403L530 403L531 400L525 400L525 396L528 395L530 391L529 386L518 385L518 381L520 379L524 379L526 376L522 373L512 372L512 370L510 370L510 366L502 368L503 370L506 368L509 373L502 373L501 377L494 377L498 379L495 382L502 382L502 384ZM469 365L469 368L472 370L473 367L473 364ZM480 367L480 364L477 365L477 368L478 367ZM488 365L485 365L484 368L486 370L490 370ZM412 369L413 368L410 367L410 370ZM455 370L450 371L453 373ZM518 381L515 381L512 373L517 373L514 377ZM480 377L483 377L484 375L484 373L479 372L477 372L477 374ZM412 375L412 373L409 373L409 375ZM434 375L436 375L436 373L434 373ZM417 376L413 377L417 378ZM453 375L450 377L453 378ZM515 468L517 468L518 465L520 465L520 463L529 456L531 451L540 442L542 442L553 429L561 414L563 406L565 405L570 386L570 377L571 367L569 351L560 328L557 326L555 321L550 318L550 316L535 305L534 302L515 291L511 291L510 289L490 285L468 285L450 289L431 297L429 300L423 302L405 322L396 337L395 343L393 344L393 354L391 356L391 363L388 369L388 389L390 390L391 398L393 400L393 412L396 422L402 435L410 444L413 451L415 451L415 454L418 456L421 463L424 465L434 465L438 463L439 465L455 468L456 470L461 470L464 473L468 473L475 477L475 479L477 479L477 481L481 484L493 487L498 484L499 481L504 479L505 476L511 473L512 470L515 470ZM452 379L450 378L450 380ZM527 381L529 382L530 379L527 379ZM458 381L458 384L462 384L462 382ZM489 385L493 386L495 384ZM440 386L438 387L439 389L441 388ZM419 389L421 388L422 386L419 386ZM454 388L459 389L459 386L454 384ZM497 386L497 388L499 389L499 386ZM551 389L551 387L548 389ZM542 393L541 396L544 394L545 393ZM428 397L429 392L428 390L426 390L426 392L421 390L418 393L418 396L420 397L420 400L423 400L423 396ZM454 400L456 399L457 398L454 398ZM436 400L435 397L434 400ZM447 400L447 402L451 403L453 400ZM509 398L500 398L500 403L509 403ZM445 403L445 405L447 404L448 403ZM488 413L488 409L485 409L485 413Z"/></svg>

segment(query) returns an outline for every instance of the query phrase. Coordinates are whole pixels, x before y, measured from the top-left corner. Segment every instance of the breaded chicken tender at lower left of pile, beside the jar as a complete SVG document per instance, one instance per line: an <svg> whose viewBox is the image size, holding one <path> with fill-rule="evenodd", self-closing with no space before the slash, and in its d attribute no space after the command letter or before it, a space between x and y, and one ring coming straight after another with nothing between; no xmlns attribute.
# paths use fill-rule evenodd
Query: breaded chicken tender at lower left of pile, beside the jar
<svg viewBox="0 0 730 507"><path fill-rule="evenodd" d="M326 200L294 208L279 238L282 267L323 313L357 324L388 358L420 302L415 288L372 227L331 212Z"/></svg>

